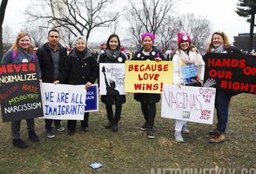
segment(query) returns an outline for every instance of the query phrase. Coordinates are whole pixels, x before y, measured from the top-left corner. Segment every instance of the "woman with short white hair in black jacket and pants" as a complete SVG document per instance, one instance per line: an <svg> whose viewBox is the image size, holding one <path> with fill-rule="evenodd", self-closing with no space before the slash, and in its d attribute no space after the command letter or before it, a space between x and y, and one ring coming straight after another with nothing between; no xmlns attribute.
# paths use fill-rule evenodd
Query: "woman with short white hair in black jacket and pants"
<svg viewBox="0 0 256 174"><path fill-rule="evenodd" d="M85 84L89 89L98 77L98 65L92 56L91 50L87 48L84 37L76 37L74 40L75 48L62 63L60 70L61 84ZM84 120L81 121L81 130L88 131L89 113L84 112ZM76 131L77 120L68 120L68 134L73 135Z"/></svg>

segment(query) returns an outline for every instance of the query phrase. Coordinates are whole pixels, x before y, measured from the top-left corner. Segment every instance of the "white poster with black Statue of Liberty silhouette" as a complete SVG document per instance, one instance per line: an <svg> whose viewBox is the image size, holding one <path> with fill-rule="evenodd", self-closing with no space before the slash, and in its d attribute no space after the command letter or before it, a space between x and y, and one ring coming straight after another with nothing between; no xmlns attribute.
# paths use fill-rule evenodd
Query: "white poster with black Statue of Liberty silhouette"
<svg viewBox="0 0 256 174"><path fill-rule="evenodd" d="M125 64L99 64L100 95L125 95Z"/></svg>

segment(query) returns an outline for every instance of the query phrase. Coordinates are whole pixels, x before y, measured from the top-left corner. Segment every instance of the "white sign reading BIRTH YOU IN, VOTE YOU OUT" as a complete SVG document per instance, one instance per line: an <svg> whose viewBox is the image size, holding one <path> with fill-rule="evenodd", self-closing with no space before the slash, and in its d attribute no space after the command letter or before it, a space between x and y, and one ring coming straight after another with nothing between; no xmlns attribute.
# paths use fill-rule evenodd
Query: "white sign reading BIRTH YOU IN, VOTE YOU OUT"
<svg viewBox="0 0 256 174"><path fill-rule="evenodd" d="M165 85L161 117L212 124L216 89Z"/></svg>

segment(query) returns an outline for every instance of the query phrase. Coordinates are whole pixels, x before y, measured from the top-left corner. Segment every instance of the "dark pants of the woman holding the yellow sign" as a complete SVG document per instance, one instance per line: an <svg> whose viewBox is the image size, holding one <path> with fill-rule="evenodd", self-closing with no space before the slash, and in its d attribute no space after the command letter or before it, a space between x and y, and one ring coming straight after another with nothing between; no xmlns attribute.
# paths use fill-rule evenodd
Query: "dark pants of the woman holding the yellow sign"
<svg viewBox="0 0 256 174"><path fill-rule="evenodd" d="M140 104L141 104L141 110L145 118L147 128L152 128L154 125L155 117L157 113L156 103L150 103L150 104L140 103Z"/></svg>

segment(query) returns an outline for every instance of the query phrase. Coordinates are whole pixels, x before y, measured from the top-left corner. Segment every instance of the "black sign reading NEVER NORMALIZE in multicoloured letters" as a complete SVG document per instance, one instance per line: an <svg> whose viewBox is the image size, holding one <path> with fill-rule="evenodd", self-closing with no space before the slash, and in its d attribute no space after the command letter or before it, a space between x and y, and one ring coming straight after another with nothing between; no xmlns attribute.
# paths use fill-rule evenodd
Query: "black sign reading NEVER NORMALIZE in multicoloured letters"
<svg viewBox="0 0 256 174"><path fill-rule="evenodd" d="M43 117L35 63L1 64L0 84L3 122Z"/></svg>

